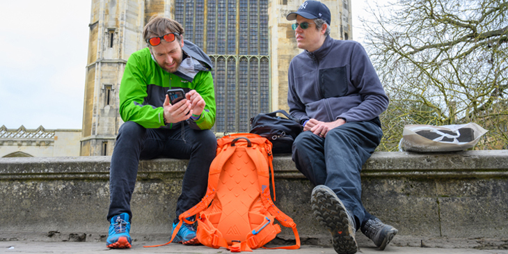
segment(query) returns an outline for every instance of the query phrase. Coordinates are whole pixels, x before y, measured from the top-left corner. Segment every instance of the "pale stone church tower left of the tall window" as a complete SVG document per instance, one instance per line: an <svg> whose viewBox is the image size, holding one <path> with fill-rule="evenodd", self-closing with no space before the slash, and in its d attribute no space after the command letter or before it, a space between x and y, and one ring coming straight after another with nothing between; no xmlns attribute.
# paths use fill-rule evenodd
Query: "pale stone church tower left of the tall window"
<svg viewBox="0 0 508 254"><path fill-rule="evenodd" d="M142 32L168 1L92 0L81 156L111 155L122 119L118 90L130 54L145 47Z"/></svg>

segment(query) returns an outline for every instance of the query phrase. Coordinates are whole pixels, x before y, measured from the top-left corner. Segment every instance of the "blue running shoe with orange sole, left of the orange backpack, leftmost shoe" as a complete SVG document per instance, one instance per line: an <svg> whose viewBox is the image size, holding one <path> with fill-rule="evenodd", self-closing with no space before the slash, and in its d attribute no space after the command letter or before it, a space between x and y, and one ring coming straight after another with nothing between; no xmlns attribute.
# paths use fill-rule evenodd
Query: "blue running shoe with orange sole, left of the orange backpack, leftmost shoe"
<svg viewBox="0 0 508 254"><path fill-rule="evenodd" d="M131 223L129 222L129 214L120 214L111 218L109 225L109 235L106 240L108 248L131 248Z"/></svg>

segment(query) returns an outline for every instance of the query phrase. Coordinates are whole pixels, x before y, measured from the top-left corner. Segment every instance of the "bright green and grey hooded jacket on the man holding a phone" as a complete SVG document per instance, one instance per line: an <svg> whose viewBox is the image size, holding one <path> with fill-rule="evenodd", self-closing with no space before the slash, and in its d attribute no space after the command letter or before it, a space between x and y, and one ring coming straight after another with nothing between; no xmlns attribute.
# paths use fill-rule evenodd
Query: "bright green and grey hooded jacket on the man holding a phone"
<svg viewBox="0 0 508 254"><path fill-rule="evenodd" d="M193 129L211 129L215 122L215 93L212 62L205 52L184 40L183 60L177 72L160 68L148 47L134 52L127 61L120 84L120 117L145 128L173 128L164 124L166 91L196 90L205 100L205 110L196 121L186 120Z"/></svg>

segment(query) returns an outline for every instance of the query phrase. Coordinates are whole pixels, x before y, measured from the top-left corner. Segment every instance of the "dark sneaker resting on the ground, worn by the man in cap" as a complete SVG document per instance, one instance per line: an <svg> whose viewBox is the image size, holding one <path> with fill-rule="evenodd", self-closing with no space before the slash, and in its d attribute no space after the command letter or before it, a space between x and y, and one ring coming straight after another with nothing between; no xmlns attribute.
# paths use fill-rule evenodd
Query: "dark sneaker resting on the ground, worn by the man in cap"
<svg viewBox="0 0 508 254"><path fill-rule="evenodd" d="M361 228L363 235L374 241L374 244L383 251L386 246L397 235L397 228L382 223L380 219L370 219Z"/></svg>

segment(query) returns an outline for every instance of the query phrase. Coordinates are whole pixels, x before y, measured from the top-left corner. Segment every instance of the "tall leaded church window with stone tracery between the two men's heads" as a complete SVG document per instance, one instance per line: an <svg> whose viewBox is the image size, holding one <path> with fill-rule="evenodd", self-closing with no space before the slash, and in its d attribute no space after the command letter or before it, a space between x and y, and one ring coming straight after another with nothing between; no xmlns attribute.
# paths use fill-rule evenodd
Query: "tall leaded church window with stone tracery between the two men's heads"
<svg viewBox="0 0 508 254"><path fill-rule="evenodd" d="M270 104L268 0L175 0L184 38L212 60L214 132L248 132ZM205 17L206 16L206 17Z"/></svg>

